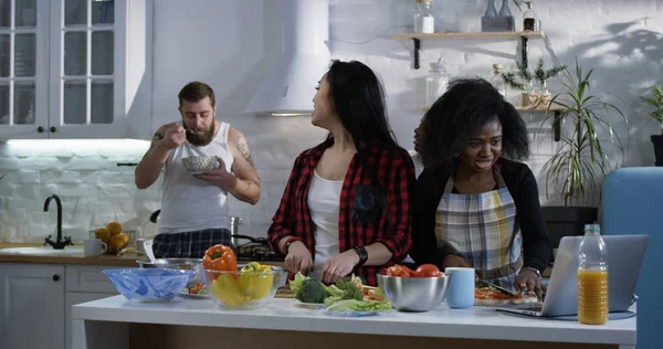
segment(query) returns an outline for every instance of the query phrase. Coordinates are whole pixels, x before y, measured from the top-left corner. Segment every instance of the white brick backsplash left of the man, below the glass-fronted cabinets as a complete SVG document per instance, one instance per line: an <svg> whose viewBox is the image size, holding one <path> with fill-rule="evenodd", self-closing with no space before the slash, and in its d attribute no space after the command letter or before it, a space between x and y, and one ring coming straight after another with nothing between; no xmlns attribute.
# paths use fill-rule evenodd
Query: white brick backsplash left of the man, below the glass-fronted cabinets
<svg viewBox="0 0 663 349"><path fill-rule="evenodd" d="M0 181L0 241L43 242L54 234L55 202L43 211L52 193L62 199L63 232L76 242L97 224L148 216L158 208L158 186L139 193L134 169L116 165L140 160L148 147L138 140L0 144L0 173L7 173Z"/></svg>

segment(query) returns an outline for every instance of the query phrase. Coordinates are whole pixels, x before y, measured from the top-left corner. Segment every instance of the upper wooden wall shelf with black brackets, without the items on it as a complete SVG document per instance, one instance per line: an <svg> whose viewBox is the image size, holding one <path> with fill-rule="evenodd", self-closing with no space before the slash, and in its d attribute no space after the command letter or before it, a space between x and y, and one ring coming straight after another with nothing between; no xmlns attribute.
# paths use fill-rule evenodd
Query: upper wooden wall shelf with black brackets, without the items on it
<svg viewBox="0 0 663 349"><path fill-rule="evenodd" d="M389 35L396 40L412 40L414 43L414 68L420 67L419 51L421 50L421 40L495 40L495 39L520 39L522 62L527 67L527 42L529 39L544 39L544 32L523 31L523 32L454 32L454 33L393 33Z"/></svg>

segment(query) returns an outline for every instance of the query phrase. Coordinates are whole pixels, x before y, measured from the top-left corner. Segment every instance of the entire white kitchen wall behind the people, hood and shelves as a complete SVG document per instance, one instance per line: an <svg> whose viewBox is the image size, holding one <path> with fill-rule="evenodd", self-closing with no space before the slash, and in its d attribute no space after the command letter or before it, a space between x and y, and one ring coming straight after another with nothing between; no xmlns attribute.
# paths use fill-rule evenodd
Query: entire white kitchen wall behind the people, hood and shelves
<svg viewBox="0 0 663 349"><path fill-rule="evenodd" d="M325 136L307 118L260 118L242 115L244 106L273 60L275 47L266 31L271 0L159 0L155 4L152 125L172 121L177 93L191 80L203 80L217 92L219 118L248 137L262 179L263 194L255 207L231 201L231 211L244 220L242 233L265 235L281 200L294 157ZM476 31L485 0L434 0L438 30ZM450 75L487 76L493 63L514 66L519 52L515 41L423 41L422 68L411 68L411 42L388 38L408 31L413 0L330 0L329 45L333 56L359 60L385 81L391 126L400 144L411 148L412 130L421 118L423 80L428 64L442 56ZM270 8L271 9L271 8ZM639 96L653 83L662 83L661 31L663 6L656 0L535 1L535 10L550 39L530 41L530 57L552 53L567 65L576 56L586 68L596 67L593 92L619 102L630 117L628 166L651 166L649 136L659 133L645 116ZM512 7L516 18L520 12ZM520 28L519 21L517 28ZM194 64L191 62L194 53ZM187 63L189 62L189 63ZM177 68L173 68L177 67ZM313 87L319 76L312 76ZM559 91L559 83L549 86ZM513 95L513 102L516 96ZM524 115L538 127L540 115ZM530 120L532 118L532 120ZM81 241L96 222L109 219L143 222L159 208L156 183L146 191L133 184L133 168L116 162L138 161L147 144L116 147L117 142L81 146L0 144L0 241L41 242L52 233L55 210L43 212L50 193L62 197L65 233ZM533 141L528 163L538 173L554 149L549 138ZM544 191L541 190L541 194ZM548 202L545 197L543 202ZM555 203L555 200L550 202Z"/></svg>

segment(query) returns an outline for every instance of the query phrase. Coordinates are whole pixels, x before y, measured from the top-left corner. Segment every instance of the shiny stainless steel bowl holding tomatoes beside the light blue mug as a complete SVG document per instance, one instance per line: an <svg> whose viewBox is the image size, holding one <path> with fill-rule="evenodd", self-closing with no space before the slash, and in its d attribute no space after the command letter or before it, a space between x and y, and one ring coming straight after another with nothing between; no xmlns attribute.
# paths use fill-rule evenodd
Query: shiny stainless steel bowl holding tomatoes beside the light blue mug
<svg viewBox="0 0 663 349"><path fill-rule="evenodd" d="M439 306L449 288L451 275L440 277L397 277L378 274L385 298L401 311L428 311Z"/></svg>

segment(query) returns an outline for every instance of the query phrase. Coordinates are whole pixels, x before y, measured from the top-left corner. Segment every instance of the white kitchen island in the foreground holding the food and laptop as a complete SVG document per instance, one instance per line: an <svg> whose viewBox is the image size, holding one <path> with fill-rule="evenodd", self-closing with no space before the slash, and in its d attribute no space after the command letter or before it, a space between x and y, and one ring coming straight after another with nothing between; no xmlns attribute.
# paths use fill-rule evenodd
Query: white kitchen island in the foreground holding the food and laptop
<svg viewBox="0 0 663 349"><path fill-rule="evenodd" d="M634 307L633 309L634 310ZM273 299L225 310L209 299L141 304L114 296L72 309L76 349L125 348L620 348L635 346L635 317L602 326L516 317L490 308L389 310L338 317Z"/></svg>

